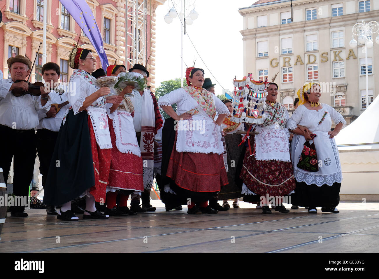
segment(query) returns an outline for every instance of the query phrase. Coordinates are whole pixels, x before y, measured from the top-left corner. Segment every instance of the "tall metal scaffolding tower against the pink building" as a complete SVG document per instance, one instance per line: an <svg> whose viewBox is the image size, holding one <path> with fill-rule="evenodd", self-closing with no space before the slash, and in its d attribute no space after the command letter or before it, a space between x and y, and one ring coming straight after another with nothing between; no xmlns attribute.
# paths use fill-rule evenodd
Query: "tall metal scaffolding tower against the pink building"
<svg viewBox="0 0 379 279"><path fill-rule="evenodd" d="M126 63L127 69L136 63L146 63L147 0L126 0Z"/></svg>

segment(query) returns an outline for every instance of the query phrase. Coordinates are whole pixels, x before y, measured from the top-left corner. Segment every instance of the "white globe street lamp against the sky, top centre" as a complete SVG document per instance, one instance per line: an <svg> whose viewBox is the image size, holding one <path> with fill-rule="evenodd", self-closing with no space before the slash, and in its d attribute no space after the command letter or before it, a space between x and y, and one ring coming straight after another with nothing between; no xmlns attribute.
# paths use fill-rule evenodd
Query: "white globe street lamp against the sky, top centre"
<svg viewBox="0 0 379 279"><path fill-rule="evenodd" d="M185 17L184 14L186 12L186 7L185 7L185 2L183 3L183 0L172 0L171 1L173 5L179 5L179 2L180 2L180 13L179 13L179 19L180 19L180 22L183 22L183 25L180 24L180 57L181 57L181 69L180 69L180 73L181 73L181 79L180 79L180 84L182 85L183 87L183 31L184 31L184 35L186 35L186 25L192 25L193 24L193 21L195 19L197 19L197 17L199 16L199 13L197 13L197 11L195 11L195 9L192 9L188 16ZM187 2L188 3L188 2ZM189 3L188 5L188 9L189 10L193 5L194 5L194 1L193 3ZM177 11L176 9L174 8L174 6L168 11L168 13L166 14L166 16L164 16L164 21L167 23L167 24L170 24L172 22L172 19L174 19L175 17L177 16ZM184 29L183 29L184 27Z"/></svg>

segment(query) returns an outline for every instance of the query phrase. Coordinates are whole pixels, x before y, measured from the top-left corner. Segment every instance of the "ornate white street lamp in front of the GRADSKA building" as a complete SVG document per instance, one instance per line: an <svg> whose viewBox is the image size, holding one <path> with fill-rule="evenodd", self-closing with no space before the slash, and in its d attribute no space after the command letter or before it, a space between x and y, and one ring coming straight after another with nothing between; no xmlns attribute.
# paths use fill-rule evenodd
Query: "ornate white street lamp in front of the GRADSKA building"
<svg viewBox="0 0 379 279"><path fill-rule="evenodd" d="M362 23L356 23L352 28L352 33L355 36L358 36L358 43L365 44L365 58L366 58L366 109L368 107L368 58L367 58L367 49L371 49L374 46L374 43L371 39L371 34L378 33L375 41L379 44L379 24L376 21L370 21L369 23L365 23L362 20ZM352 35L352 40L350 41L350 47L356 47L357 41L354 39L354 35Z"/></svg>

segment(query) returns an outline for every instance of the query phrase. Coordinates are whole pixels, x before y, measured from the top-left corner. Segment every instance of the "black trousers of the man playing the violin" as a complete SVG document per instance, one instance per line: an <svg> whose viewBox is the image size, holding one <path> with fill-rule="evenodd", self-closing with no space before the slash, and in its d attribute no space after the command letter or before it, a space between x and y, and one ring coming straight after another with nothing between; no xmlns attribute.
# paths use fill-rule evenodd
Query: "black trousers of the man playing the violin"
<svg viewBox="0 0 379 279"><path fill-rule="evenodd" d="M13 194L16 197L29 196L29 185L36 161L36 131L17 130L0 125L0 146L0 167L3 169L4 181L8 180L14 157ZM25 206L12 206L11 212L22 212L24 209Z"/></svg>

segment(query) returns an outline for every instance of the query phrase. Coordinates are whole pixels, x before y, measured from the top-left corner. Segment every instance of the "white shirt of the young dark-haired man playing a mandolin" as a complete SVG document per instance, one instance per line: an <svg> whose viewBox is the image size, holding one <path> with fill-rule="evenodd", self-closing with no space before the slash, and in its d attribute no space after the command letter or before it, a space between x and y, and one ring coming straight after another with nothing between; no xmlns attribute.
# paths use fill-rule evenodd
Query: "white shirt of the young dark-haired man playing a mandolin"
<svg viewBox="0 0 379 279"><path fill-rule="evenodd" d="M62 104L67 101L67 88L64 87L63 84L60 84L59 88L64 91L62 95L59 95L59 91L57 92L55 90L51 90L49 93L52 104ZM47 118L44 111L40 110L38 113L39 125L37 126L37 129L48 129L50 131L59 132L63 117L70 106L70 104L67 104L66 106L61 107L55 117L49 118Z"/></svg>

